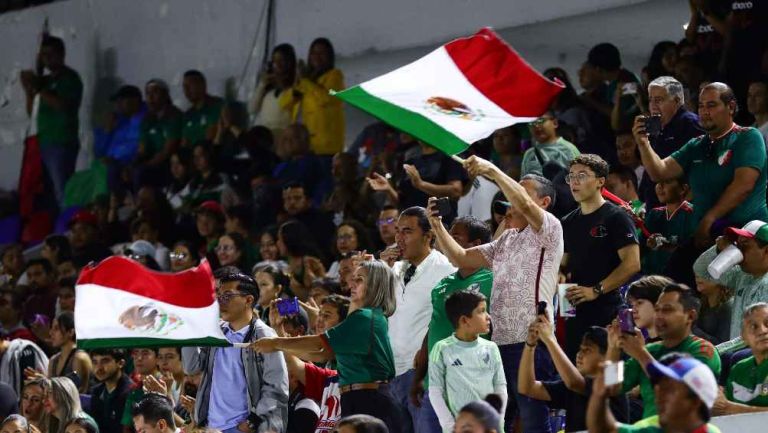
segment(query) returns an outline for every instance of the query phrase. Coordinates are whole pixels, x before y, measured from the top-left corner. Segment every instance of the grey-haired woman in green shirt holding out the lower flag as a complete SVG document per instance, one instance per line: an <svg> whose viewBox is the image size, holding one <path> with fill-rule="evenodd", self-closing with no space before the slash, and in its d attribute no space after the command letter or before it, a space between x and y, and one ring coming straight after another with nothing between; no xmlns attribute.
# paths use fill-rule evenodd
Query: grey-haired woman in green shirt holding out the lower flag
<svg viewBox="0 0 768 433"><path fill-rule="evenodd" d="M299 357L335 359L341 391L341 416L371 415L400 431L388 383L395 376L387 317L395 312L400 282L386 263L363 261L355 270L346 319L322 335L262 338L261 353L287 351Z"/></svg>

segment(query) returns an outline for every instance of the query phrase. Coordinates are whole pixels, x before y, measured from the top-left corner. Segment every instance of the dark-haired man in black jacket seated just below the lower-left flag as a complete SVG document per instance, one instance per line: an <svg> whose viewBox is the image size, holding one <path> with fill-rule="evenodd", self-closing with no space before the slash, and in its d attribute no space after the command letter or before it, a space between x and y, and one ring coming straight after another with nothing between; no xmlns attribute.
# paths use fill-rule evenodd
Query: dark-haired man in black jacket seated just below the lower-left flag
<svg viewBox="0 0 768 433"><path fill-rule="evenodd" d="M99 384L91 391L91 410L101 433L122 433L120 420L125 400L131 392L131 379L123 372L125 350L102 349L91 352L93 375Z"/></svg>

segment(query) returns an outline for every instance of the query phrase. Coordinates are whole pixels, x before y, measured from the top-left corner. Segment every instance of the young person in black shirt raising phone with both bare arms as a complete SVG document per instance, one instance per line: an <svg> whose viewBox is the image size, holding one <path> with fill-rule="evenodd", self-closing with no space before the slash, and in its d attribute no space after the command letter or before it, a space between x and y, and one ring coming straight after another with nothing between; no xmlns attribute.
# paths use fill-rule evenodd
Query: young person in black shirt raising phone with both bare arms
<svg viewBox="0 0 768 433"><path fill-rule="evenodd" d="M552 356L561 379L552 382L536 380L534 356L541 341ZM517 387L520 394L549 402L551 409L565 409L565 431L587 429L587 403L592 391L592 380L599 373L608 350L608 332L593 326L581 340L573 365L555 339L554 328L547 316L539 316L528 328L525 349L520 359ZM611 411L624 421L628 411L626 397L611 399Z"/></svg>

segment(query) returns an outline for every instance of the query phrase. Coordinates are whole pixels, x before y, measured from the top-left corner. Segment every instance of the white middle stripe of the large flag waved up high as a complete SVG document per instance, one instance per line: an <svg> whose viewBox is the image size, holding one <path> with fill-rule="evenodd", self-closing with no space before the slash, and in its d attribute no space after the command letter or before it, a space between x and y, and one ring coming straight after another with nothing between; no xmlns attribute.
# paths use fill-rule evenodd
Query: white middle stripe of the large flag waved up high
<svg viewBox="0 0 768 433"><path fill-rule="evenodd" d="M423 115L467 143L487 137L489 129L499 129L535 119L511 116L488 99L467 80L444 47L402 68L367 81L360 87L377 98ZM482 122L431 109L426 101L435 96L451 98L465 104L472 112L483 116Z"/></svg>

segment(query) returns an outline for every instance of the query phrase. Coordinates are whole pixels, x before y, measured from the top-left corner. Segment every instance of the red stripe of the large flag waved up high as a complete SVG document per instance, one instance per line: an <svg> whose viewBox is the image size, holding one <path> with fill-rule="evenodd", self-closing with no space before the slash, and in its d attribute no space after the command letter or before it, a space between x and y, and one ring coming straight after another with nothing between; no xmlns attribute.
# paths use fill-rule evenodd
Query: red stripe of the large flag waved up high
<svg viewBox="0 0 768 433"><path fill-rule="evenodd" d="M564 87L539 74L488 28L445 50L475 88L515 117L541 116Z"/></svg>

